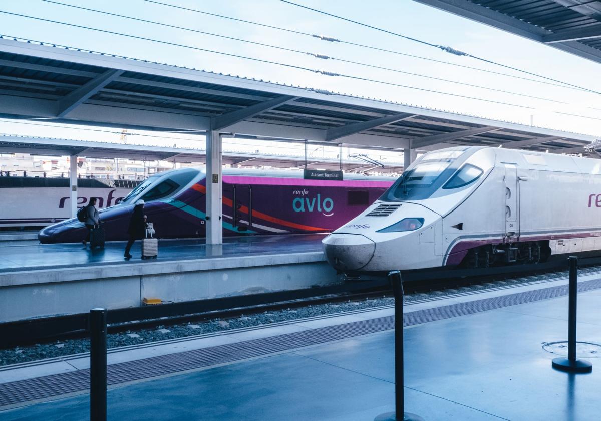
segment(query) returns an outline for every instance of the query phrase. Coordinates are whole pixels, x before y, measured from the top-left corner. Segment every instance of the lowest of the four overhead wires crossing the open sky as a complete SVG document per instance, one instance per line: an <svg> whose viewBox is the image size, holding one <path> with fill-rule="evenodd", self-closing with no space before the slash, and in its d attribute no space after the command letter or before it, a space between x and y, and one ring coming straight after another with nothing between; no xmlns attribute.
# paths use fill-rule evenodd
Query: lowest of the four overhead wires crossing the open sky
<svg viewBox="0 0 601 421"><path fill-rule="evenodd" d="M233 53L227 53L227 52L223 52L223 51L216 51L216 50L211 50L211 49L206 49L206 48L200 48L200 47L197 47L197 46L191 46L191 45L185 45L185 44L180 44L180 43L174 43L174 42L171 42L171 41L157 40L155 38L141 37L139 35L125 34L124 32L109 31L108 29L100 29L100 28L94 28L92 26L77 25L76 23L61 22L59 20L45 19L43 17L37 17L37 16L29 16L29 15L26 15L26 14L14 13L14 12L6 11L6 10L0 10L0 13L10 14L10 15L13 15L13 16L26 17L26 18L29 18L29 19L41 20L43 22L58 23L60 25L73 26L75 28L89 29L91 31L99 31L99 32L107 33L107 34L120 35L120 36L135 38L135 39L139 39L139 40L152 41L152 42L162 43L162 44L165 44L165 45L178 46L178 47L182 47L182 48L189 48L189 49L194 49L194 50L197 50L197 51L212 52L212 53L215 53L215 54L227 55L228 57L236 57L236 58L242 58L242 59L245 59L245 60L258 61L258 62L261 62L261 63L275 64L277 66L285 66L285 67L288 67L288 68L291 68L291 69L307 70L308 72L320 73L322 75L340 76L340 77L344 77L344 78L351 78L351 79L357 79L357 80L376 82L376 83L379 83L379 84L386 84L386 85L396 86L396 87L405 87L405 88L410 88L410 89L414 89L414 90L421 90L421 91L426 91L426 92L431 92L431 93L439 93L439 94L442 94L442 95L448 95L448 96L454 96L454 97L468 98L468 99L473 99L473 100L478 100L478 101L483 101L483 102L497 103L497 104L508 105L508 106L515 106L515 107L519 107L519 108L535 109L534 107L526 106L526 105L519 105L519 104L515 104L515 103L501 102L501 101L495 101L495 100L478 98L478 97L469 97L469 96L460 95L460 94L454 94L454 93L449 93L449 92L445 92L445 91L436 91L436 90L430 90L430 89L426 89L426 88L411 87L409 85L401 85L401 84L394 84L392 82L377 81L375 79L360 78L358 76L350 76L350 75L344 75L344 74L340 74L340 73L327 72L325 70L310 69L308 67L296 66L294 64L281 63L281 62L278 62L278 61L265 60L265 59L256 58L256 57L248 57L248 56L239 55L239 54L233 54ZM313 90L311 88L306 88L306 89L307 90Z"/></svg>

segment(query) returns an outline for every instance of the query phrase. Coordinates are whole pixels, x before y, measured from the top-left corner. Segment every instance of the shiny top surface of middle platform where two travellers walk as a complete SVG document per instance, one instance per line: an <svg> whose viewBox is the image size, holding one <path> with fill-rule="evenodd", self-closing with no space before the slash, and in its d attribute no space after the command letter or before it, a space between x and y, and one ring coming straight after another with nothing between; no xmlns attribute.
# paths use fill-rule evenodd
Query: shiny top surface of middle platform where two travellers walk
<svg viewBox="0 0 601 421"><path fill-rule="evenodd" d="M224 244L211 246L204 239L159 241L159 260L192 260L215 257L256 256L258 254L322 251L325 234L243 236L224 238ZM31 269L71 268L99 264L140 262L141 242L136 241L133 258L124 260L126 242L108 242L105 248L84 247L82 244L37 244L2 247L0 272Z"/></svg>

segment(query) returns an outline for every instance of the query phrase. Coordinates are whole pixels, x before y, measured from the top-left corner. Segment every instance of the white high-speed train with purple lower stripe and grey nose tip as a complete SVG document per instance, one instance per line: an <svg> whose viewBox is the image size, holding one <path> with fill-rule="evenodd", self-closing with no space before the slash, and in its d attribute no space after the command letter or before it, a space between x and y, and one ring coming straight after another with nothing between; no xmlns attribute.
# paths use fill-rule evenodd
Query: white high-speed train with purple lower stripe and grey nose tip
<svg viewBox="0 0 601 421"><path fill-rule="evenodd" d="M492 147L426 153L323 239L340 272L601 255L601 161Z"/></svg>

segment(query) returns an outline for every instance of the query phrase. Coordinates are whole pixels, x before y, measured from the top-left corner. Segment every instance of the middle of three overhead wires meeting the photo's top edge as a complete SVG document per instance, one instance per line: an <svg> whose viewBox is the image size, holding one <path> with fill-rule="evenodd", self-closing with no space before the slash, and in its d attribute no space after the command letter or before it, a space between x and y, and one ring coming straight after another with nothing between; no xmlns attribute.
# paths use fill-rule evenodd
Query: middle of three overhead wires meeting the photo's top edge
<svg viewBox="0 0 601 421"><path fill-rule="evenodd" d="M450 66L462 67L463 69L477 70L478 72L485 72L485 73L491 73L493 75L507 76L509 78L522 79L524 81L531 81L531 82L535 82L535 83L539 83L539 84L546 84L546 85L551 85L551 86L556 86L556 87L561 87L561 88L574 89L574 90L579 90L579 91L588 91L585 88L579 88L579 87L575 87L575 86L572 86L572 85L566 85L566 84L562 84L562 83L557 84L557 83L548 82L548 81L540 81L538 79L525 78L523 76L511 75L510 73L495 72L494 70L490 70L490 69L482 69L480 67L473 67L473 66L466 66L465 64L452 63L451 61L437 60L435 58L422 57L420 55L415 55L415 54L407 54L407 53L404 53L404 52L395 51L395 50L386 49L386 48L381 48L381 47L376 47L376 46L373 46L373 45L365 45L365 44L361 44L361 43L355 43L355 42L352 42L352 41L341 40L341 39L338 39L338 38L335 38L335 37L327 37L325 35L317 35L317 34L311 34L309 32L296 31L295 29L283 28L282 26L268 25L267 23L260 23L260 22L254 22L252 20L239 19L237 17L226 16L226 15L218 14L218 13L211 13L211 12L208 12L208 11L205 11L205 10L200 10L200 9L195 9L195 8L189 8L189 7L183 7L183 6L180 6L180 5L170 4L170 3L166 3L166 2L161 2L161 1L156 1L156 0L144 0L144 1L147 1L147 2L150 2L150 3L154 3L154 4L160 4L160 5L163 5L163 6L166 6L166 7L178 8L178 9L187 10L187 11L194 11L196 13L203 13L203 14L207 14L209 16L221 17L223 19L236 20L237 22L249 23L251 25L263 26L264 28L272 28L272 29L276 29L276 30L279 30L279 31L286 31L286 32L294 33L294 34L306 35L308 37L320 38L320 39L325 40L325 41L337 41L337 42L340 42L341 44L353 45L353 46L358 46L358 47L361 47L361 48L367 48L367 49L373 49L373 50L376 50L376 51L388 52L388 53L391 53L391 54L403 55L405 57L418 58L420 60L432 61L434 63L448 64Z"/></svg>

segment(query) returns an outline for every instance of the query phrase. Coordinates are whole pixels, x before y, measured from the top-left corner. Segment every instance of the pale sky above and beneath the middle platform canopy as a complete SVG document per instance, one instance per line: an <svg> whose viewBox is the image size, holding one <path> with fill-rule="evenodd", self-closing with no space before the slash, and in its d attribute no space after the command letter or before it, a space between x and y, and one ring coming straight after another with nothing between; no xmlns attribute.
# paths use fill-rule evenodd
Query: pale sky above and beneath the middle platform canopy
<svg viewBox="0 0 601 421"><path fill-rule="evenodd" d="M268 25L282 26L302 32L324 34L345 41L373 45L405 54L419 55L421 57L450 61L466 66L480 67L495 72L511 73L513 75L537 79L534 76L523 75L522 73L486 64L473 58L457 57L447 52L442 52L440 49L365 28L354 23L344 22L343 20L295 7L279 0L224 0L220 2L201 0L160 1L224 14L239 19L254 20ZM40 22L38 20L2 13L0 13L0 33L2 35L28 38L110 54L126 55L128 57L159 61L161 63L177 64L178 66L212 70L213 72L323 88L330 91L393 100L430 108L447 109L498 120L529 124L532 119L535 126L590 135L601 135L599 127L599 123L601 123L600 94L534 81L525 81L508 76L493 75L491 73L434 63L405 55L374 51L358 46L332 43L305 35L282 32L242 22L233 22L228 19L207 16L192 11L178 10L144 0L105 0L103 2L63 0L62 2L139 17L141 19L186 26L200 31L245 38L304 52L325 54L343 60L360 61L376 66L403 70L404 72L421 73L437 78L483 85L498 90L544 97L548 100L516 96L485 90L483 88L466 87L465 85L451 82L435 81L404 73L343 63L341 61L322 60L305 54L249 45L240 41L225 40L182 29L165 28L164 26L136 22L123 17L106 16L105 14L78 10L42 0L4 1L0 2L0 10L29 14L45 19L61 20L78 25L94 26L96 28L198 46L200 48L214 49L231 54L279 61L311 69L328 70L429 90L481 97L531 108L489 103L410 88L393 87L374 82L319 75L305 70L258 63L188 48L167 46L152 41L135 40L120 35L105 34L56 23ZM508 34L507 32L482 25L481 23L472 22L471 20L412 0L374 0L371 2L362 0L332 0L329 2L298 0L298 2L331 13L340 14L350 19L379 26L380 28L406 34L410 37L423 39L433 44L451 46L472 55L601 91L601 78L598 76L601 70L600 64L559 51L550 46ZM573 117L559 114L559 112L579 114L586 117ZM102 130L106 131L107 129ZM109 129L109 131L112 130ZM118 131L118 129L114 130L114 132ZM0 120L0 132L95 141L118 141L119 138L118 134L106 132L82 131L63 127L28 126L25 124L8 123L5 120ZM164 146L173 146L173 144L177 144L178 146L204 146L204 142L186 141L185 139L189 137L185 135L166 134L165 136L178 137L182 140L132 136L129 141L130 143L162 144ZM195 137L194 139L202 140L203 138ZM255 145L265 145L258 141L235 140L234 142L236 144L231 145L226 142L225 149L254 150L257 149ZM282 148L290 148L290 150ZM298 152L295 152L296 150ZM302 149L290 144L281 144L279 152L287 155L299 155ZM335 153L336 151L332 150L332 152ZM373 154L374 152L370 152L370 155ZM378 153L375 153L375 155L378 155Z"/></svg>

